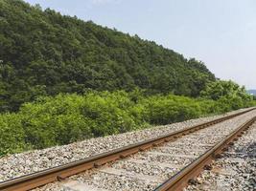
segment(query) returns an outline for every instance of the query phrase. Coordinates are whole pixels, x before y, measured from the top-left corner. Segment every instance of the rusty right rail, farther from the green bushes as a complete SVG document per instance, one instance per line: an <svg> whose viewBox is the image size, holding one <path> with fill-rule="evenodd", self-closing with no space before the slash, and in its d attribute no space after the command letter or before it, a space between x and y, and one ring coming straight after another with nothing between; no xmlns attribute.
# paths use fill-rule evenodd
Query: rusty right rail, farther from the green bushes
<svg viewBox="0 0 256 191"><path fill-rule="evenodd" d="M155 191L181 191L189 184L190 180L194 180L203 169L209 167L212 160L220 157L221 153L227 149L228 146L233 144L239 137L244 134L251 124L256 121L256 117L253 117L246 121L239 128L234 130L229 136L223 138L213 148L209 149L203 155L195 159L192 163L184 167L171 179L166 180L163 184L159 185Z"/></svg>

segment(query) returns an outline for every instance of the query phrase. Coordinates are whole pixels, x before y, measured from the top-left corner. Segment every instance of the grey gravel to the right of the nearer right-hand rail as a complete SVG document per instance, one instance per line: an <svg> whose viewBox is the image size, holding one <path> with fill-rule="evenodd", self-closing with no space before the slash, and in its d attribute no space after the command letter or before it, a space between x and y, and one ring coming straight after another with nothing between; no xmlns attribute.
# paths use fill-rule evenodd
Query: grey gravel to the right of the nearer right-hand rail
<svg viewBox="0 0 256 191"><path fill-rule="evenodd" d="M197 185L189 185L186 191L255 191L256 123L212 166L211 171L203 171L198 177Z"/></svg>

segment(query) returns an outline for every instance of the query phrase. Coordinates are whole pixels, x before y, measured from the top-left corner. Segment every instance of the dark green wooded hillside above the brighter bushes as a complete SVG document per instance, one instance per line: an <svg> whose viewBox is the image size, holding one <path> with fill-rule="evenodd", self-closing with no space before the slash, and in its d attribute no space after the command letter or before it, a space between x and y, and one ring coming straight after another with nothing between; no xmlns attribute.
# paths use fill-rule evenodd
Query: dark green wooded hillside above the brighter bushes
<svg viewBox="0 0 256 191"><path fill-rule="evenodd" d="M0 0L0 31L1 112L88 89L198 96L215 80L196 59L20 0Z"/></svg>

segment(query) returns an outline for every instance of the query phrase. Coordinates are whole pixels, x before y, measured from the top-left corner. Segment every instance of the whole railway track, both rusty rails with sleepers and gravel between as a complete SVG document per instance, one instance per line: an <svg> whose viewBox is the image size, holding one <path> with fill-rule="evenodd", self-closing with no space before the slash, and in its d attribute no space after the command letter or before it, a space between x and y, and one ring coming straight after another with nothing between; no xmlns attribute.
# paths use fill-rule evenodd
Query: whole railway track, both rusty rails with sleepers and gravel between
<svg viewBox="0 0 256 191"><path fill-rule="evenodd" d="M253 117L252 117L253 116ZM0 182L0 190L180 190L255 120L253 109ZM163 183L164 182L164 183ZM53 186L51 188L51 186ZM48 189L46 187L39 188Z"/></svg>

